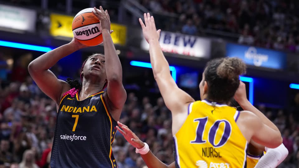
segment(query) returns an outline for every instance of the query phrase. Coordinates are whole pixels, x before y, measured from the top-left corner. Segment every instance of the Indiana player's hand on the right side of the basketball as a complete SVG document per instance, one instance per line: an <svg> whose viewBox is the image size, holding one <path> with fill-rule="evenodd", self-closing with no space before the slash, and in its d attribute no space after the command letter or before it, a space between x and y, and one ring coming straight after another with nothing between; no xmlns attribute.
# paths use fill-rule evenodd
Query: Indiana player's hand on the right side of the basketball
<svg viewBox="0 0 299 168"><path fill-rule="evenodd" d="M96 7L93 7L94 11L93 14L94 16L97 17L97 19L100 20L101 24L101 30L107 29L110 32L110 16L108 14L108 11L104 11L102 6L100 6L100 10L98 10Z"/></svg>

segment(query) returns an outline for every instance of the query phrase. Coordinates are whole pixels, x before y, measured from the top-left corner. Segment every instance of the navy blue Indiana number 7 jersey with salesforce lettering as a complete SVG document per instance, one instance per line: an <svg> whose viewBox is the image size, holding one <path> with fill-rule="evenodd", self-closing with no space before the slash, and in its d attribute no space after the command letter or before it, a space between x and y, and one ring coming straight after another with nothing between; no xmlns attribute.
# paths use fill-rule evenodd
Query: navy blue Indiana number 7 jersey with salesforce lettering
<svg viewBox="0 0 299 168"><path fill-rule="evenodd" d="M51 152L51 168L116 168L112 143L117 122L105 104L103 91L79 100L64 96L59 105Z"/></svg>

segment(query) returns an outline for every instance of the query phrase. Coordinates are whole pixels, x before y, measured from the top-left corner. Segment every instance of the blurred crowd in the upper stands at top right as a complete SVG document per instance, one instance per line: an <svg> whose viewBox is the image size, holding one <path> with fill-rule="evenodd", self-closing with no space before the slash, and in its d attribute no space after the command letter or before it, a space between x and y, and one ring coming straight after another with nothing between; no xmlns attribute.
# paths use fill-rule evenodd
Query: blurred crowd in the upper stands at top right
<svg viewBox="0 0 299 168"><path fill-rule="evenodd" d="M154 13L178 14L162 30L237 35L241 44L299 51L297 0L139 0ZM220 31L217 33L217 31ZM209 31L211 32L211 31ZM234 35L233 35L234 34Z"/></svg>

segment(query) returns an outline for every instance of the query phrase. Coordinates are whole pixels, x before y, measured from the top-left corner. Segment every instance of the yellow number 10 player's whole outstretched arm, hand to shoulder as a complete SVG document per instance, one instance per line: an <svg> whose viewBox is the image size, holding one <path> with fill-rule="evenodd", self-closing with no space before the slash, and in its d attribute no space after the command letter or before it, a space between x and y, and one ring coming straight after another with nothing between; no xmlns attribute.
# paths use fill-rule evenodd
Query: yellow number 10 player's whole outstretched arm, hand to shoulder
<svg viewBox="0 0 299 168"><path fill-rule="evenodd" d="M169 64L164 57L159 44L160 31L156 29L154 17L144 14L145 24L139 19L145 40L150 44L150 62L153 68L154 78L158 84L165 105L172 113L185 113L186 104L194 99L186 92L178 88L170 75ZM184 109L186 107L186 109Z"/></svg>

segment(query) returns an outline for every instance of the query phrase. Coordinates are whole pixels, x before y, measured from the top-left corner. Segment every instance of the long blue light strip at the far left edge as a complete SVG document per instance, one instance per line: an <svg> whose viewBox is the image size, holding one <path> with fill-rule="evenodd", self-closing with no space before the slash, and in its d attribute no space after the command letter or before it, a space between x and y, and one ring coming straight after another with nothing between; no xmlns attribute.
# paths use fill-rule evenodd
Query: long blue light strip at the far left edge
<svg viewBox="0 0 299 168"><path fill-rule="evenodd" d="M29 49L34 51L42 51L42 52L48 52L52 49L49 47L43 47L38 45L30 45L30 44L22 44L22 43L15 43L15 42L9 42L9 41L2 41L0 40L0 46L4 47L13 47L18 49Z"/></svg>

